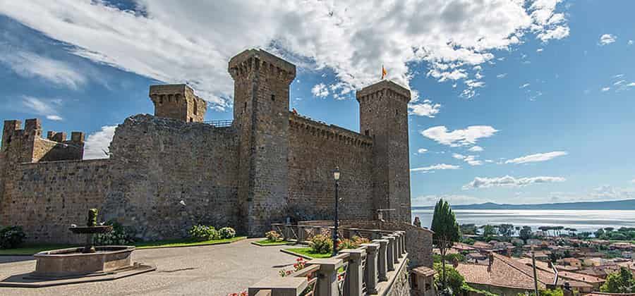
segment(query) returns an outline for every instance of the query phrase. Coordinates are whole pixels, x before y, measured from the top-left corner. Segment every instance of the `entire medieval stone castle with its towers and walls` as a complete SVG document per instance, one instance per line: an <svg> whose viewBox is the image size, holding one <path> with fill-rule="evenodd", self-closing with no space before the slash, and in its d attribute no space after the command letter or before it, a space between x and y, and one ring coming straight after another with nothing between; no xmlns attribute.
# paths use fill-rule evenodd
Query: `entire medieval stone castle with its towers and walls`
<svg viewBox="0 0 635 296"><path fill-rule="evenodd" d="M38 119L5 121L0 225L28 240L75 242L89 208L138 237L178 238L195 223L262 235L270 223L331 219L339 166L340 217L411 219L408 102L389 80L359 90L360 131L289 111L296 67L259 49L229 61L234 121L205 123L188 85L152 85L155 115L118 125L109 159L82 160L84 134L48 132Z"/></svg>

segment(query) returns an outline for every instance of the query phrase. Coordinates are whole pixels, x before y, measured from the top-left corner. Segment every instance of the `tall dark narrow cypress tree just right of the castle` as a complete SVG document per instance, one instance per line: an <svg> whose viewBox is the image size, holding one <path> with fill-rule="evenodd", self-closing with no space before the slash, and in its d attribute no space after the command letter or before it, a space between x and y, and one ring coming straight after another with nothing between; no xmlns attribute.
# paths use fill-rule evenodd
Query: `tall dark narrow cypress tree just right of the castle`
<svg viewBox="0 0 635 296"><path fill-rule="evenodd" d="M434 231L433 242L441 253L441 264L445 266L445 254L454 245L454 242L461 239L461 230L459 230L459 223L456 223L456 216L454 216L452 208L443 199L440 199L435 205L430 230ZM442 273L442 287L446 288L445 269L442 269Z"/></svg>

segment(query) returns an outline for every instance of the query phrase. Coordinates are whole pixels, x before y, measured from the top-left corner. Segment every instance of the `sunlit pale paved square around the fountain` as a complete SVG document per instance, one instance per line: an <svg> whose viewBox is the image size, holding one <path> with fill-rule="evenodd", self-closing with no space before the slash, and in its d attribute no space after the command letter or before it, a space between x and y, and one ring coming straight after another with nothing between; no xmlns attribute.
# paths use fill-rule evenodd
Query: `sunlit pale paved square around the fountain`
<svg viewBox="0 0 635 296"><path fill-rule="evenodd" d="M227 295L246 290L279 269L290 269L295 258L281 247L251 245L257 239L229 245L139 249L134 261L155 264L157 271L97 283L49 288L0 288L0 295ZM0 279L35 269L30 257L0 257Z"/></svg>

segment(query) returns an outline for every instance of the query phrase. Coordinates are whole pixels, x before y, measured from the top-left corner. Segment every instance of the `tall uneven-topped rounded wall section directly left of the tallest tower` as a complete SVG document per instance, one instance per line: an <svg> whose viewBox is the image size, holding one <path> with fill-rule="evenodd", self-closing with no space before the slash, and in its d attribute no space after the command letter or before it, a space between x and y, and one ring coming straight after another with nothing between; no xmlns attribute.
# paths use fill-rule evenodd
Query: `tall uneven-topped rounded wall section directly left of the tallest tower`
<svg viewBox="0 0 635 296"><path fill-rule="evenodd" d="M116 128L110 152L105 218L146 240L179 238L197 223L236 227L234 128L137 115Z"/></svg>

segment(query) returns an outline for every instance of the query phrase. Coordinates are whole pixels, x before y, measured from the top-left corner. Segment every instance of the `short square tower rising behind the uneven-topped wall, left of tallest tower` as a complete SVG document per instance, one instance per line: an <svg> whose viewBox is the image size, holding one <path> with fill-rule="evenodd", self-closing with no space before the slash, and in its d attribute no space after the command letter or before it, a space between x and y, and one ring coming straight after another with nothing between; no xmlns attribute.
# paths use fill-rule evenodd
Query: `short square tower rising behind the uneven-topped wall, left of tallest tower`
<svg viewBox="0 0 635 296"><path fill-rule="evenodd" d="M207 111L207 102L188 85L150 85L150 99L157 117L200 123Z"/></svg>

